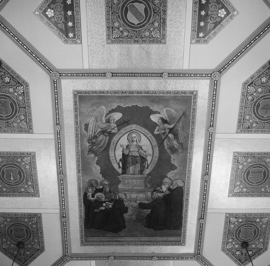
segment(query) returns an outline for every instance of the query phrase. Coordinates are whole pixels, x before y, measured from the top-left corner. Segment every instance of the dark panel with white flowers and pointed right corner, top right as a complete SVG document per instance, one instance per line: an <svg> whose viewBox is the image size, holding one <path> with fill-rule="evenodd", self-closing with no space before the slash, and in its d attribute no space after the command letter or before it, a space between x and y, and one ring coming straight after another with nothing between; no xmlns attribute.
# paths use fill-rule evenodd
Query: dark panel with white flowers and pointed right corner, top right
<svg viewBox="0 0 270 266"><path fill-rule="evenodd" d="M207 44L235 16L237 10L228 0L193 0L192 44Z"/></svg>

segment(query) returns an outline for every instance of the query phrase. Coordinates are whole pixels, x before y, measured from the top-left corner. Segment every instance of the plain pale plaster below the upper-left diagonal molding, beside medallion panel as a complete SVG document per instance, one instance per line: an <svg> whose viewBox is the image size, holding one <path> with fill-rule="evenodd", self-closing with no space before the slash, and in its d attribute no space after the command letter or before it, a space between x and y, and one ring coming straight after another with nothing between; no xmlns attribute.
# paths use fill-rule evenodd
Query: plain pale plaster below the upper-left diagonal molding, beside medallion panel
<svg viewBox="0 0 270 266"><path fill-rule="evenodd" d="M53 134L50 76L2 31L0 40L0 58L29 84L33 133Z"/></svg>

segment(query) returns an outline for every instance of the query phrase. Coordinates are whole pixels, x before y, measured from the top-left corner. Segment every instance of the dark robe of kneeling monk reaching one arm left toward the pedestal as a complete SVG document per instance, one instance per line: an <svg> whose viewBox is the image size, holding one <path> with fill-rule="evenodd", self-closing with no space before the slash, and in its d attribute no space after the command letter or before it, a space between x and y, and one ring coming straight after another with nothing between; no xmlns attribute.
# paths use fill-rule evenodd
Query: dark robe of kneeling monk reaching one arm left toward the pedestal
<svg viewBox="0 0 270 266"><path fill-rule="evenodd" d="M146 226L154 231L165 230L166 226L166 204L163 199L155 199L151 203L138 203L140 209L151 210L146 215Z"/></svg>

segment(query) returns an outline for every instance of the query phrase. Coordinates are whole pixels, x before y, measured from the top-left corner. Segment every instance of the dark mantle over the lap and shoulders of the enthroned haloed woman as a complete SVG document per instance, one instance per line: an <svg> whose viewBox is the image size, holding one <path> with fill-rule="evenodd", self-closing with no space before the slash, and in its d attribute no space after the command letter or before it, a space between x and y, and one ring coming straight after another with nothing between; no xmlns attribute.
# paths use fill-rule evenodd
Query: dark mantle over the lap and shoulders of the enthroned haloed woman
<svg viewBox="0 0 270 266"><path fill-rule="evenodd" d="M127 144L126 149L129 149L131 146L132 145L130 143ZM143 150L141 144L138 144L138 143L136 144L136 148L138 148L138 150ZM120 159L120 161L122 162L121 175L126 174L127 167L134 166L137 163L140 163L141 170L140 170L139 174L142 175L143 170L144 170L144 168L146 167L146 164L147 164L147 159L145 157L143 157L141 155L138 155L138 156L133 156L133 155L129 155L129 154L125 155L123 152L122 152L122 159Z"/></svg>

